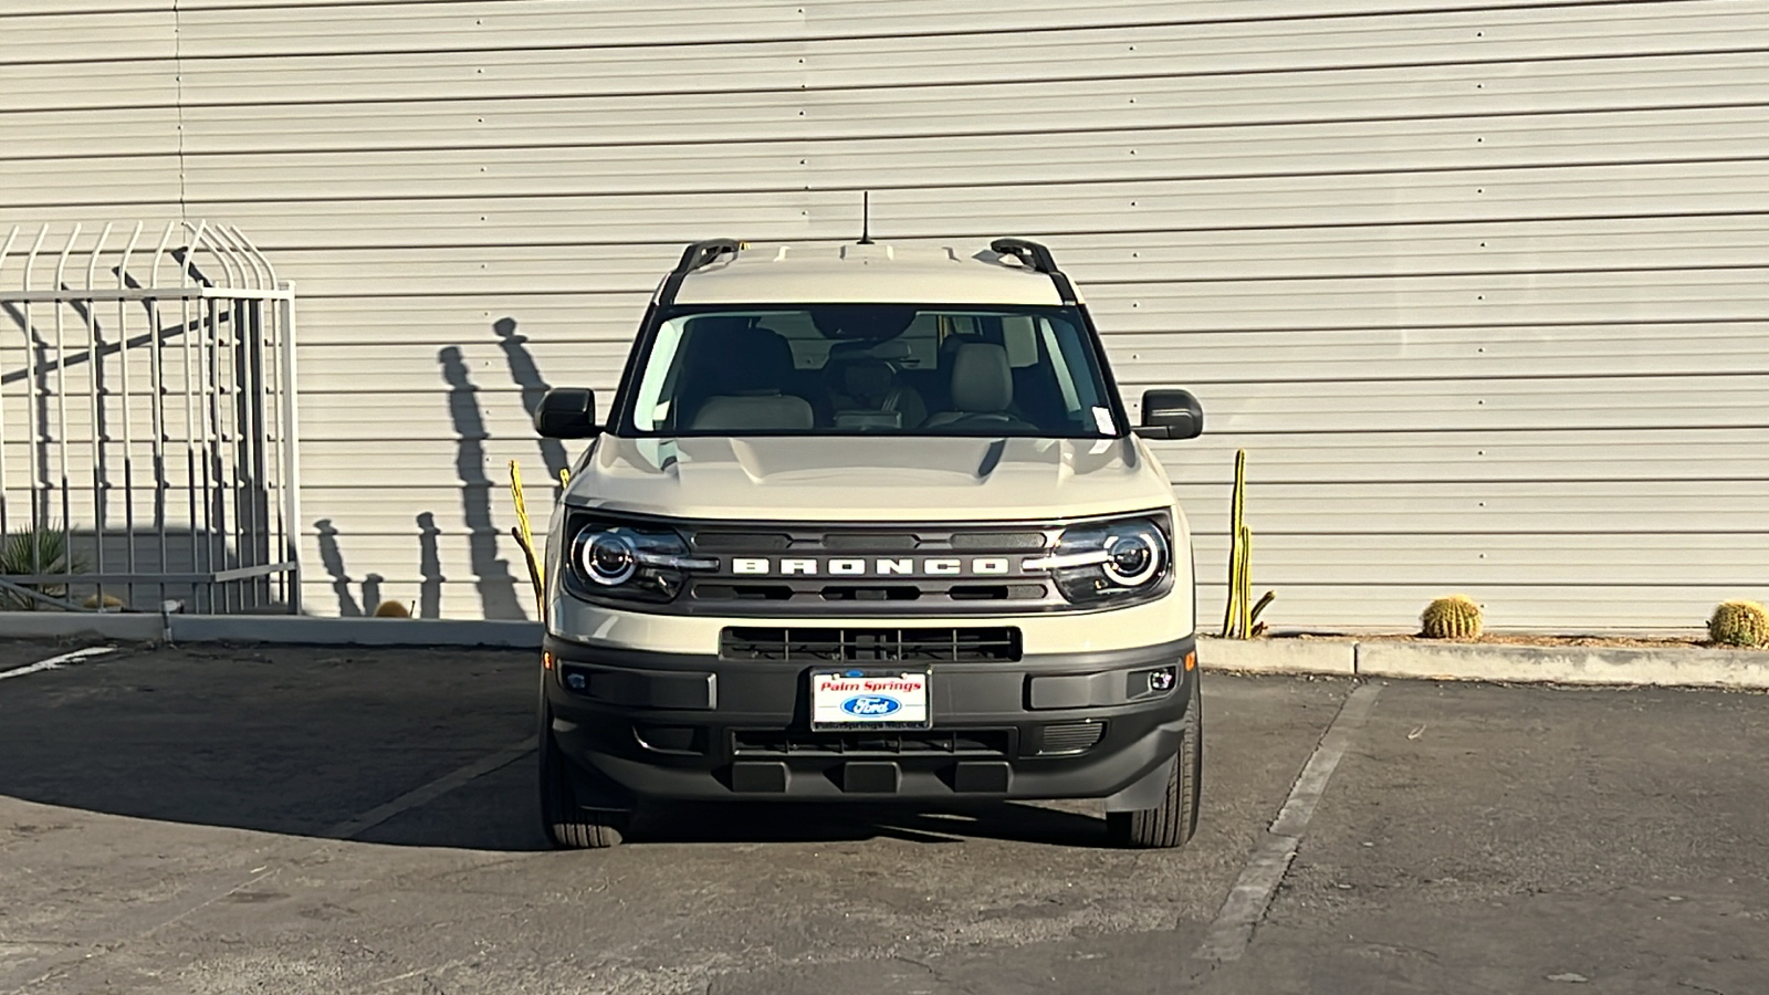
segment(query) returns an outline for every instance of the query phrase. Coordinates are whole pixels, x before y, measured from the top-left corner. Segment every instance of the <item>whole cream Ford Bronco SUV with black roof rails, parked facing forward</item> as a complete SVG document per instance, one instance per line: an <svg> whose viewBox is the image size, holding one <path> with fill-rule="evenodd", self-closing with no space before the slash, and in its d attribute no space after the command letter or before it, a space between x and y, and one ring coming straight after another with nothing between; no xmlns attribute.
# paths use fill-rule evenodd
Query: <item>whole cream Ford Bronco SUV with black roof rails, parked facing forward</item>
<svg viewBox="0 0 1769 995"><path fill-rule="evenodd" d="M1047 248L693 243L554 510L540 781L559 846L649 800L1104 798L1178 846L1201 765L1191 535Z"/></svg>

